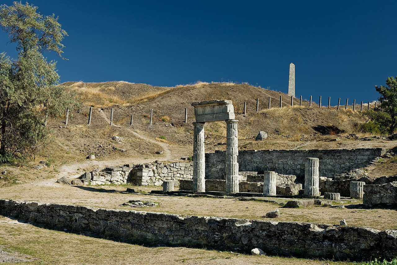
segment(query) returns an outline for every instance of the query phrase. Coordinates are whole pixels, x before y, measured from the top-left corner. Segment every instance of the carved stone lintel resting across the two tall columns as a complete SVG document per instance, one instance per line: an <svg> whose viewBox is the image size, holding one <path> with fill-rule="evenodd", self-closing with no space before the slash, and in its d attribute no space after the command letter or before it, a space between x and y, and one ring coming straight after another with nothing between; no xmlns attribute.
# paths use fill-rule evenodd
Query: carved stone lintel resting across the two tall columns
<svg viewBox="0 0 397 265"><path fill-rule="evenodd" d="M196 122L224 121L235 118L231 100L208 100L191 104L195 108Z"/></svg>

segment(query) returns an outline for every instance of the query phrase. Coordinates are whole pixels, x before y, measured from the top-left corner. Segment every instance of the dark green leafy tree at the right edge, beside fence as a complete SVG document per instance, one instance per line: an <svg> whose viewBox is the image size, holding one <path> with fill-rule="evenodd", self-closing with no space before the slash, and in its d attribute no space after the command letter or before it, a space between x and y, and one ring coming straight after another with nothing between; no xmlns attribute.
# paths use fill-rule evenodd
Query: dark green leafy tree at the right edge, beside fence
<svg viewBox="0 0 397 265"><path fill-rule="evenodd" d="M386 86L375 86L376 91L381 95L378 99L380 107L374 110L369 117L380 131L387 131L392 134L397 126L397 77L388 77Z"/></svg>

